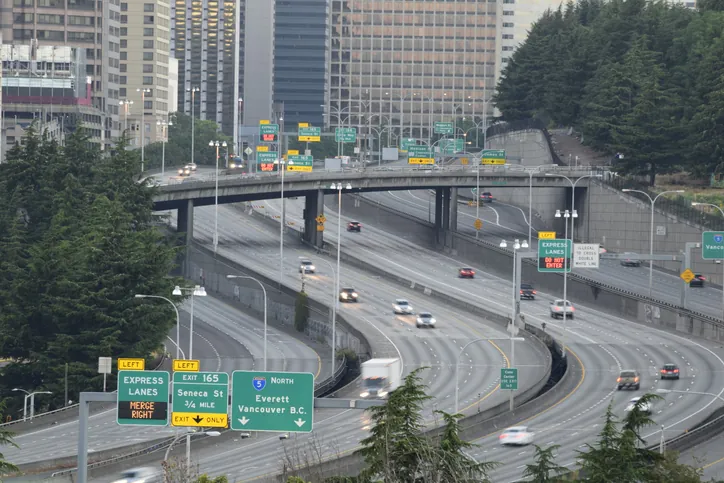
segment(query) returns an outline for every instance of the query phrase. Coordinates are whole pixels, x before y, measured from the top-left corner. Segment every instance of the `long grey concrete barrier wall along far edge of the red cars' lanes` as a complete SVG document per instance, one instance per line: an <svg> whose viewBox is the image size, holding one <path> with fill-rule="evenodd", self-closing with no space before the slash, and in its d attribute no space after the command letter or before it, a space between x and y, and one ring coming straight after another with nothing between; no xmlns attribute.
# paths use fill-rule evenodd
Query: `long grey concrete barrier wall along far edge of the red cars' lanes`
<svg viewBox="0 0 724 483"><path fill-rule="evenodd" d="M434 233L434 225L417 217L403 213L376 201L355 195L361 203L386 211L389 214L428 228ZM513 263L512 251L498 245L476 240L475 237L457 232L446 234L445 251L474 266L482 266L486 271L502 278L510 276ZM540 273L537 261L524 260L523 280L532 283L540 291L549 294L563 293L562 273ZM568 297L577 304L589 306L607 314L623 317L642 325L656 326L670 331L724 342L724 323L715 317L684 309L674 304L655 300L627 290L598 282L571 272L568 274Z"/></svg>

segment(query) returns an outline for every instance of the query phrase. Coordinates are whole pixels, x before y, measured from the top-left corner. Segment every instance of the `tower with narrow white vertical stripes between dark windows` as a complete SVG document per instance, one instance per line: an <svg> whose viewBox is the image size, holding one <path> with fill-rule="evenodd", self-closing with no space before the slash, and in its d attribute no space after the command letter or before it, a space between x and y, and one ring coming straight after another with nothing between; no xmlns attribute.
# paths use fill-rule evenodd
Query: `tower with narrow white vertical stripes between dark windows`
<svg viewBox="0 0 724 483"><path fill-rule="evenodd" d="M171 12L171 52L178 60L178 110L190 115L193 100L196 117L216 122L235 138L238 99L243 92L243 35L236 26L244 25L246 1L173 0Z"/></svg>

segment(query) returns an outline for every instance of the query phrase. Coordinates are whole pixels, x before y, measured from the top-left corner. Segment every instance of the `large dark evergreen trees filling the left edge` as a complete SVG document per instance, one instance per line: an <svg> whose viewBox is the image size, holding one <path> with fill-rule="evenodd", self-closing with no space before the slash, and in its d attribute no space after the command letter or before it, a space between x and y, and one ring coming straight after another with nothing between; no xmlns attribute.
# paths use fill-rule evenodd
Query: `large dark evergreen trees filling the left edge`
<svg viewBox="0 0 724 483"><path fill-rule="evenodd" d="M136 181L135 153L88 146L82 129L60 147L31 128L0 166L0 357L15 361L0 391L51 391L51 408L64 403L66 363L77 401L102 387L98 357L147 357L175 322L170 307L134 300L174 286L154 189Z"/></svg>

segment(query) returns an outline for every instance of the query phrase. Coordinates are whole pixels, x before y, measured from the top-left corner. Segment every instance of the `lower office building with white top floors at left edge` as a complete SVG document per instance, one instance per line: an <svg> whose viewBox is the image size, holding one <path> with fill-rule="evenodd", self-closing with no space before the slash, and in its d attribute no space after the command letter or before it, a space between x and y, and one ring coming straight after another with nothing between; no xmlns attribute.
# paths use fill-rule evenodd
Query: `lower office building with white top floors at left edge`
<svg viewBox="0 0 724 483"><path fill-rule="evenodd" d="M86 76L86 49L3 44L0 159L22 143L28 127L61 145L82 125L88 142L102 146L104 113L93 106L92 78Z"/></svg>

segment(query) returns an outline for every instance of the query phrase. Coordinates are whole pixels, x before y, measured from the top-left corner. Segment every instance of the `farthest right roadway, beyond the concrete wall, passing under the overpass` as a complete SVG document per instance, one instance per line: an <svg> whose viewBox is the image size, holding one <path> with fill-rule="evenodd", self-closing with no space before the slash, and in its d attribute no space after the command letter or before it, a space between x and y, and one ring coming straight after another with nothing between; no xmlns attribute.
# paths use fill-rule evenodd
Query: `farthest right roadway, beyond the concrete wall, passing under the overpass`
<svg viewBox="0 0 724 483"><path fill-rule="evenodd" d="M429 192L425 190L366 193L364 197L424 221L434 221L435 219L434 199L430 202ZM496 245L500 243L501 238L527 239L527 213L527 209L497 201L486 203L480 209L480 218L483 220L480 238ZM458 231L475 236L474 221L475 207L459 204ZM544 229L543 222L534 215L533 249L537 249L535 235L538 230L542 229ZM601 260L601 266L598 270L575 269L575 273L623 290L648 295L649 271L645 266L623 267L618 260ZM683 282L679 277L657 270L653 282L653 296L655 299L680 305L680 290ZM713 317L722 317L721 290L710 286L692 288L689 300L690 307L693 310Z"/></svg>

